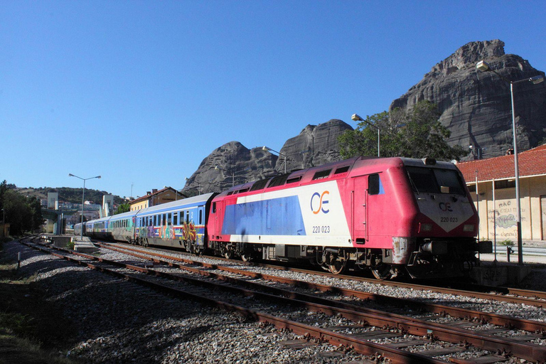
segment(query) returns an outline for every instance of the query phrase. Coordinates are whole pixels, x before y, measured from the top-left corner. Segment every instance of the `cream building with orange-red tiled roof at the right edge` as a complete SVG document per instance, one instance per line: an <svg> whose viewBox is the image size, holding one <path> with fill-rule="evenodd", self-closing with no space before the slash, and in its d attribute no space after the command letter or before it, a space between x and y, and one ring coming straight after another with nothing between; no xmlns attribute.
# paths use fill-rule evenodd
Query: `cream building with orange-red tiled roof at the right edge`
<svg viewBox="0 0 546 364"><path fill-rule="evenodd" d="M457 167L463 173L474 203L478 201L480 238L515 242L513 154L461 162ZM523 240L546 240L546 144L518 154L518 169Z"/></svg>

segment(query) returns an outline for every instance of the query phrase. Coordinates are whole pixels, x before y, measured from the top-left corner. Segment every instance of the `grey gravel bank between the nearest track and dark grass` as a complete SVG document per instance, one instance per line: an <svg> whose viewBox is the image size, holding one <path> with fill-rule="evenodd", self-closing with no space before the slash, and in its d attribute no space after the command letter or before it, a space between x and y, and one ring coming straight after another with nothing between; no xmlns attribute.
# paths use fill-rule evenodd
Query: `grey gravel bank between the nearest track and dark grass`
<svg viewBox="0 0 546 364"><path fill-rule="evenodd" d="M21 252L23 275L36 274L43 299L75 321L77 340L68 353L85 363L362 363L326 343L294 348L301 339L241 316L173 299L105 274L76 267L9 242Z"/></svg>

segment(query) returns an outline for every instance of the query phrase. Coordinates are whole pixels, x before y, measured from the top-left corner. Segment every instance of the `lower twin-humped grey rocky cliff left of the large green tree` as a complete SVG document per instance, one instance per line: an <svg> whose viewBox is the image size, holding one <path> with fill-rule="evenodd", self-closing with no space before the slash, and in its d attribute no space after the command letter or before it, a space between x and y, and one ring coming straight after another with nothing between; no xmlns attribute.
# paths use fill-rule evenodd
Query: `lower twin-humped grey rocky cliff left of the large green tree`
<svg viewBox="0 0 546 364"><path fill-rule="evenodd" d="M284 143L281 156L264 150L263 146L247 149L238 141L230 141L203 159L197 171L186 181L183 192L194 195L225 191L233 184L237 186L284 173L284 156L287 156L287 171L338 161L341 159L338 136L352 129L338 119L307 125L298 136Z"/></svg>

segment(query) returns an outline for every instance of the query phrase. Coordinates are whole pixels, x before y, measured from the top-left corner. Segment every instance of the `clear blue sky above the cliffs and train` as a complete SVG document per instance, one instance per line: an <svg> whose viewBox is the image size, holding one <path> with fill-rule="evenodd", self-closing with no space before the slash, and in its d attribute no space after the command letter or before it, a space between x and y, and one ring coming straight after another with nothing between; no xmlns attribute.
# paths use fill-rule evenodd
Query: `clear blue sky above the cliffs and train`
<svg viewBox="0 0 546 364"><path fill-rule="evenodd" d="M388 109L470 41L546 70L542 1L0 0L0 180L182 188L229 141Z"/></svg>

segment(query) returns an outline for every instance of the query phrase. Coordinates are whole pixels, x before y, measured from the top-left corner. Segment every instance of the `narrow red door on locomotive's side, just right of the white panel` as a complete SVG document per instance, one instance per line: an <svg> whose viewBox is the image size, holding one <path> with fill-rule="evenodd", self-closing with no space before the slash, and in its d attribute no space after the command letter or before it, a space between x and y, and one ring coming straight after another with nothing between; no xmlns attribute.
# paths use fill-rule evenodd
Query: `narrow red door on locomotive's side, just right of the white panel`
<svg viewBox="0 0 546 364"><path fill-rule="evenodd" d="M357 244L368 240L368 176L353 178L352 225L353 239Z"/></svg>

